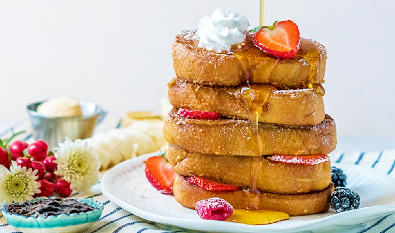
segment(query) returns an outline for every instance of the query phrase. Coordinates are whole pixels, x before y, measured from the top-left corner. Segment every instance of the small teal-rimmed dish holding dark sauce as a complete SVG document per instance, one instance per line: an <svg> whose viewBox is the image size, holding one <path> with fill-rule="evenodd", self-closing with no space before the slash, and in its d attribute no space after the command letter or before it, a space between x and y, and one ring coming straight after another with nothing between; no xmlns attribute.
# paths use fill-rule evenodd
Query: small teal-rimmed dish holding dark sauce
<svg viewBox="0 0 395 233"><path fill-rule="evenodd" d="M40 197L38 199L46 199ZM32 199L30 202L37 199ZM8 206L5 205L2 209L4 218L9 225L16 227L19 231L26 233L62 233L62 232L79 232L91 227L102 215L104 205L100 201L92 198L77 199L80 203L86 203L93 208L92 211L73 213L73 214L59 214L48 217L26 217L19 214L11 214L8 212Z"/></svg>

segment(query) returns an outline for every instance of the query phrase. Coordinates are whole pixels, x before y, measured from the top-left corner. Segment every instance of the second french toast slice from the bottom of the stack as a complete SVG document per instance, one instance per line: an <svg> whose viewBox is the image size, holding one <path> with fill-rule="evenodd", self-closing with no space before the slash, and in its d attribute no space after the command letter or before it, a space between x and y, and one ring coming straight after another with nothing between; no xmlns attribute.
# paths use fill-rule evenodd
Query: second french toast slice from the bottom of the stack
<svg viewBox="0 0 395 233"><path fill-rule="evenodd" d="M196 175L222 184L250 185L252 156L218 156L189 152L169 144L167 159L173 170L183 176ZM274 162L261 158L256 188L276 194L301 194L325 189L331 183L331 163L314 165Z"/></svg>

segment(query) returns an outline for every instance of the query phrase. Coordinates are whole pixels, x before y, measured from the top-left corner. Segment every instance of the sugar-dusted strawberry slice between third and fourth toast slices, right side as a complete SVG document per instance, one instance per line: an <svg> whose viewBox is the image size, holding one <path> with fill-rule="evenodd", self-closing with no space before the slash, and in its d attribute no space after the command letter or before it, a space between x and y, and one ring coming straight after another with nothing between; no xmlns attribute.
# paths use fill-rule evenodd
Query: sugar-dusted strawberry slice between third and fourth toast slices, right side
<svg viewBox="0 0 395 233"><path fill-rule="evenodd" d="M329 157L326 154L309 154L309 155L279 155L273 154L267 157L268 160L280 163L292 163L292 164L306 164L316 165L319 163L325 163L329 161Z"/></svg>

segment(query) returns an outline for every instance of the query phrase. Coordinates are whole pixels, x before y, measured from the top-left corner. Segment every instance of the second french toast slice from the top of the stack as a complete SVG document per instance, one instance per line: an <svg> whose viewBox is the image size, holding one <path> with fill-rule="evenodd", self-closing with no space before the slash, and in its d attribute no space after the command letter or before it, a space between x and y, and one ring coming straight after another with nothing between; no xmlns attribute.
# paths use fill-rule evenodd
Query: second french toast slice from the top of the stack
<svg viewBox="0 0 395 233"><path fill-rule="evenodd" d="M277 90L271 85L205 86L173 78L169 87L169 101L175 108L217 112L226 118L248 119L243 90L255 93L255 99L264 99L259 122L276 124L317 124L324 120L322 96L312 88Z"/></svg>

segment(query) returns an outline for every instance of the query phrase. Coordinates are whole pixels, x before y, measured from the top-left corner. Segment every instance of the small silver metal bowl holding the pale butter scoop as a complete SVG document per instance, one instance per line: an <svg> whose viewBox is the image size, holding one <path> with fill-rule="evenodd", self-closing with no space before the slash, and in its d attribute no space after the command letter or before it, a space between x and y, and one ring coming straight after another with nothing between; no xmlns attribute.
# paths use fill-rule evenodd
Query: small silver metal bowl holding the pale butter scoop
<svg viewBox="0 0 395 233"><path fill-rule="evenodd" d="M103 108L90 101L80 101L82 116L47 117L37 113L37 107L44 101L31 103L26 109L33 127L33 136L48 144L48 148L57 147L65 137L71 140L91 137L103 114Z"/></svg>

